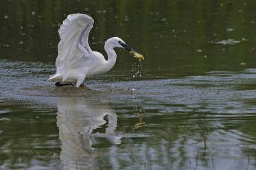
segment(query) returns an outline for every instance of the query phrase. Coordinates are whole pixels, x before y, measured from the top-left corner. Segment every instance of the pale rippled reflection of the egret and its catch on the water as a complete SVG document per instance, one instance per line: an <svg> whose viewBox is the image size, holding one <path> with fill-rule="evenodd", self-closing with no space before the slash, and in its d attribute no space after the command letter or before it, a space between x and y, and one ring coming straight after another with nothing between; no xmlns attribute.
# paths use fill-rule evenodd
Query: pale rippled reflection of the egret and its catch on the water
<svg viewBox="0 0 256 170"><path fill-rule="evenodd" d="M104 120L108 116L108 123ZM142 116L132 131L144 124ZM110 153L97 151L99 138L119 145L124 134L115 132L117 114L108 105L86 101L82 97L60 97L58 99L57 125L61 141L60 160L64 169L93 169L95 157ZM102 129L106 127L105 132ZM108 145L106 143L102 145ZM97 161L96 161L97 162Z"/></svg>

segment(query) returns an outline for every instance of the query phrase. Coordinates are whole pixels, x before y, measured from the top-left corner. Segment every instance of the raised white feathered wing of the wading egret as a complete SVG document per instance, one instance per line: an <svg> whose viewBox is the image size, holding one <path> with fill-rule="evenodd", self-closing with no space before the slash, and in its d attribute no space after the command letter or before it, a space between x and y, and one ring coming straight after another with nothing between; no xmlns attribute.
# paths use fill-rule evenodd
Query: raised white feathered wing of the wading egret
<svg viewBox="0 0 256 170"><path fill-rule="evenodd" d="M80 62L82 58L93 58L88 37L93 27L93 19L86 14L69 14L58 29L57 73Z"/></svg>

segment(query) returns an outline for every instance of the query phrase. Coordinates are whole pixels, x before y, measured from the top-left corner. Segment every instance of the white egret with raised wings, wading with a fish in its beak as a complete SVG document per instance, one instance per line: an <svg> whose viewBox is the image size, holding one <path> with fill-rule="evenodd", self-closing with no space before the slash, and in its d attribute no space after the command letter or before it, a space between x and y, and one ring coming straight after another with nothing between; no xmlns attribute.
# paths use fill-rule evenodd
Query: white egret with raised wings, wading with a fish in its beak
<svg viewBox="0 0 256 170"><path fill-rule="evenodd" d="M113 68L117 60L115 47L124 48L137 55L121 38L113 37L106 40L104 49L108 55L105 60L102 53L92 51L88 43L89 33L93 27L93 19L86 14L69 14L58 29L60 42L56 58L56 74L51 75L47 82L57 82L56 86L75 83L75 86L85 87L82 83L86 77L106 73ZM135 55L136 54L136 55Z"/></svg>

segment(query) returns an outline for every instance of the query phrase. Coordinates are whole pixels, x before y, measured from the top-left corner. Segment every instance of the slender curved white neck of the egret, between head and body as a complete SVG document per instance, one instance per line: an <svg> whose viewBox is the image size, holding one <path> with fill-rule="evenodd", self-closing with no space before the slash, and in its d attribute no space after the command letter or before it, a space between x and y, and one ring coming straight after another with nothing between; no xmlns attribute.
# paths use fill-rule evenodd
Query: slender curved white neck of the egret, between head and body
<svg viewBox="0 0 256 170"><path fill-rule="evenodd" d="M113 43L108 40L105 43L104 49L108 55L108 60L106 60L106 68L110 70L117 61L117 53L115 53Z"/></svg>

